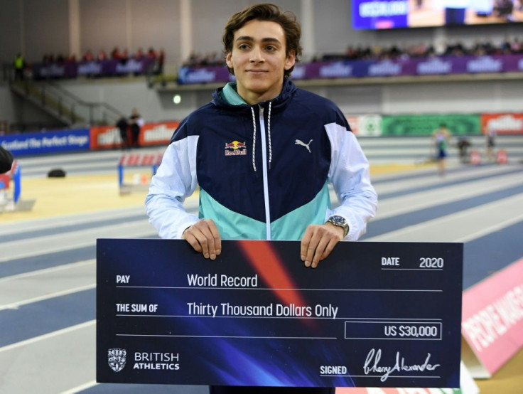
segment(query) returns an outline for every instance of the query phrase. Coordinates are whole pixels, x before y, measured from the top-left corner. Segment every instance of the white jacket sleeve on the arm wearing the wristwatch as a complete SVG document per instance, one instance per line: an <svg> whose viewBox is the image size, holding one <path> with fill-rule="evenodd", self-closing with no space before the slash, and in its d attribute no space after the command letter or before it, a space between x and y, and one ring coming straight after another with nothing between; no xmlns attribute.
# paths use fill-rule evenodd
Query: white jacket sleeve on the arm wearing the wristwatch
<svg viewBox="0 0 523 394"><path fill-rule="evenodd" d="M341 215L349 224L345 240L357 240L374 217L377 193L370 183L369 161L355 135L340 124L325 126L332 148L329 180L340 201L330 215Z"/></svg>

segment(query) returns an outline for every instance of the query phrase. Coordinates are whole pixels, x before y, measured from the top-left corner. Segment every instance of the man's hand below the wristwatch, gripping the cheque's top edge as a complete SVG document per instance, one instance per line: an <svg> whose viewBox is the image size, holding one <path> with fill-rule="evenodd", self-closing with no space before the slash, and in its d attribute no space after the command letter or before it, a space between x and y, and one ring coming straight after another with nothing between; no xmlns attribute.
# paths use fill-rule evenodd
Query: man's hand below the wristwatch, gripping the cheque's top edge
<svg viewBox="0 0 523 394"><path fill-rule="evenodd" d="M301 239L301 261L306 267L318 267L330 255L335 245L343 240L343 228L332 223L308 225Z"/></svg>

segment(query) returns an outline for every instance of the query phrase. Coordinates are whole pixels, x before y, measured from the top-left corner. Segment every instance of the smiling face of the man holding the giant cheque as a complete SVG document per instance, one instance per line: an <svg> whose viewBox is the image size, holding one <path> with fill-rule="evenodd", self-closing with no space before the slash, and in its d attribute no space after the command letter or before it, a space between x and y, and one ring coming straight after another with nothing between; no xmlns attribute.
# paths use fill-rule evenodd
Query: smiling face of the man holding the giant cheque
<svg viewBox="0 0 523 394"><path fill-rule="evenodd" d="M295 63L285 54L284 29L276 22L249 21L234 33L227 65L234 70L238 94L249 104L270 100L281 92L284 70Z"/></svg>

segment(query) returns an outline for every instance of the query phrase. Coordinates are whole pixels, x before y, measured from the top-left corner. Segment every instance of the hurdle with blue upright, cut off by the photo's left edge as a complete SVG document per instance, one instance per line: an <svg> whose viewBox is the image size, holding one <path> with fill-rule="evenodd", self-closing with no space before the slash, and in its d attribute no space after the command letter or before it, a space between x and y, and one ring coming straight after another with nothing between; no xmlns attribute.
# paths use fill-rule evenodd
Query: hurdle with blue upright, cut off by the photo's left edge
<svg viewBox="0 0 523 394"><path fill-rule="evenodd" d="M36 199L23 200L22 193L22 171L18 160L13 161L11 169L6 174L0 175L0 212L31 211ZM9 189L13 183L12 196Z"/></svg>

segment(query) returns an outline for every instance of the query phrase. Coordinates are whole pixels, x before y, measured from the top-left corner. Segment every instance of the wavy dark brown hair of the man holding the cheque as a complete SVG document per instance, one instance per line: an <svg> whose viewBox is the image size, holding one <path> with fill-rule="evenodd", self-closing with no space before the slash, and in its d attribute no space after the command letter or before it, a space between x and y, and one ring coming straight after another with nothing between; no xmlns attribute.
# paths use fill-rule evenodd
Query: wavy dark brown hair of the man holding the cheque
<svg viewBox="0 0 523 394"><path fill-rule="evenodd" d="M285 33L285 55L289 56L291 52L296 57L296 62L301 56L301 27L300 23L291 11L281 11L279 6L274 4L255 4L249 6L243 11L239 11L232 15L225 25L225 32L223 33L223 51L225 55L232 52L232 41L234 41L234 33L242 28L245 23L249 21L271 21L278 23ZM229 73L234 75L234 70L227 67ZM284 75L290 77L294 66L289 70L284 70Z"/></svg>

